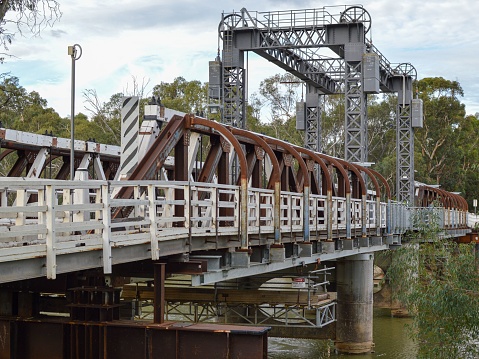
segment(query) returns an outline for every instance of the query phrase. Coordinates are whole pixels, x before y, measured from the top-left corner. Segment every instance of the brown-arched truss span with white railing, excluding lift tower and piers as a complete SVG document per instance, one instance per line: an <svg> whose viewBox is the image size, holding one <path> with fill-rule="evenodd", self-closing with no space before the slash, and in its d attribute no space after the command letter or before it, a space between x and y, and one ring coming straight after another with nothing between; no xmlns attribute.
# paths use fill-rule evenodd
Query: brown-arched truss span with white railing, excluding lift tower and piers
<svg viewBox="0 0 479 359"><path fill-rule="evenodd" d="M27 162L31 174L0 178L3 283L194 253L221 258L221 268L193 276L195 285L213 283L386 249L412 229L414 212L435 211L447 235L468 231L458 195L421 187L426 208L406 207L374 170L192 115L173 116L126 181L90 179L114 162L95 152L101 145L78 153L94 160L74 181L42 178L52 143L2 146L3 161L16 151L13 168ZM230 183L234 155L239 174ZM428 208L433 202L441 206Z"/></svg>

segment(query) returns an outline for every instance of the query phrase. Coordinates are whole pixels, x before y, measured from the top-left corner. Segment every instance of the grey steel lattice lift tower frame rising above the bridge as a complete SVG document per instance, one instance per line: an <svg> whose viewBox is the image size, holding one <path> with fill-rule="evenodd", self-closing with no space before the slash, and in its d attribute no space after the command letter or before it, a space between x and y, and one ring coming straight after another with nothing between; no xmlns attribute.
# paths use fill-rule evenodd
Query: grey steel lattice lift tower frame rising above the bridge
<svg viewBox="0 0 479 359"><path fill-rule="evenodd" d="M222 61L218 57L215 62L220 66L217 78L221 81L213 85L217 88L212 92L221 98L223 123L244 128L244 53L253 51L275 63L306 85L305 147L318 152L322 97L344 94L345 160L359 164L368 162L367 95L381 91L406 94L397 115L400 150L396 192L400 201L412 203L414 162L410 159L414 143L410 105L415 70L411 71L414 68L409 64L392 66L372 44L370 29L371 17L362 6L272 12L243 8L223 14L218 28Z"/></svg>

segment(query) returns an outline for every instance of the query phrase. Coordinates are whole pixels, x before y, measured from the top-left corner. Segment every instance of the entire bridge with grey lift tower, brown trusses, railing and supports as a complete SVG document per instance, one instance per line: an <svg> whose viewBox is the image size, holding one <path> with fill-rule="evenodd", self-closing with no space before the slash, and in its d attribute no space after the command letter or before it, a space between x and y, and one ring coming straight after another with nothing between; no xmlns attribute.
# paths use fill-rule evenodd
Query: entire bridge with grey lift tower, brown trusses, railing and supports
<svg viewBox="0 0 479 359"><path fill-rule="evenodd" d="M222 59L210 63L209 84L210 108L220 109L222 123L159 116L149 107L139 130L139 101L130 98L121 148L0 129L0 331L8 337L0 356L34 358L40 348L58 358L192 357L197 348L211 354L214 343L221 358L266 357L267 328L201 323L231 316L316 329L336 321L340 351L370 351L372 254L401 245L418 225L438 224L448 237L470 232L462 197L415 186L413 127L422 122L422 104L412 96L416 71L393 66L368 38L370 27L360 6L224 14ZM245 51L307 84L298 112L304 147L243 129ZM367 94L380 91L398 93L395 197L366 167ZM345 97L345 160L323 154L319 141L321 96L338 93ZM75 178L68 179L71 165ZM281 303L270 288L217 287L329 261L337 264L337 302L322 297L326 279L308 281L307 295L278 293ZM166 270L213 291L201 299L197 288L165 290ZM153 302L153 324L115 321L120 295L110 281L122 276L153 277L153 290L123 287L125 298ZM321 297L312 299L321 285ZM65 311L68 296L68 320L29 319ZM164 323L165 303L168 315L182 307L177 314L197 324ZM358 339L351 328L359 326Z"/></svg>

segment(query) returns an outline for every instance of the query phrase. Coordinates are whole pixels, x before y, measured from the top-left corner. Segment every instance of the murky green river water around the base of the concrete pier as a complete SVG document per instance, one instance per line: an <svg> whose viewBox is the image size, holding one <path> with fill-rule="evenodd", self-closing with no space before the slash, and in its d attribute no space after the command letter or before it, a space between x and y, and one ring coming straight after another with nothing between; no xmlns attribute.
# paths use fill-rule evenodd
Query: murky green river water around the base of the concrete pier
<svg viewBox="0 0 479 359"><path fill-rule="evenodd" d="M374 310L374 353L367 355L336 355L326 341L310 339L270 338L270 359L293 358L416 358L417 345L409 338L405 325L408 318L392 318L389 310Z"/></svg>

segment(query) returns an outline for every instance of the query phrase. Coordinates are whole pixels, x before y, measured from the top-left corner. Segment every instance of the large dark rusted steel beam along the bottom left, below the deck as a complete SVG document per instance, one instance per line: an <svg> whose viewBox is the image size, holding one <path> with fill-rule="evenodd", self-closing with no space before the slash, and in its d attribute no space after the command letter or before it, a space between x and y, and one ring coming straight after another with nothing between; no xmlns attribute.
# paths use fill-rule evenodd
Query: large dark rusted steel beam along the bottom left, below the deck
<svg viewBox="0 0 479 359"><path fill-rule="evenodd" d="M266 359L270 327L0 319L0 358Z"/></svg>

